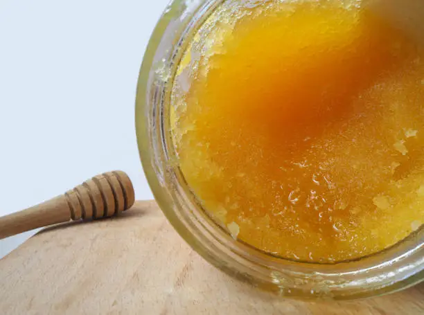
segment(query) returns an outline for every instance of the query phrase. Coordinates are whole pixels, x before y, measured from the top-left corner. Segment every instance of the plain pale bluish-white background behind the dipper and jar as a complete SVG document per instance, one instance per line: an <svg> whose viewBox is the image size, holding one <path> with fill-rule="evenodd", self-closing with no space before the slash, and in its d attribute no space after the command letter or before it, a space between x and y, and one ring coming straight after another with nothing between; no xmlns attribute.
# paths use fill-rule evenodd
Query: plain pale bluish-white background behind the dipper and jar
<svg viewBox="0 0 424 315"><path fill-rule="evenodd" d="M0 215L115 169L152 199L134 102L168 1L0 0ZM0 258L33 233L0 240Z"/></svg>

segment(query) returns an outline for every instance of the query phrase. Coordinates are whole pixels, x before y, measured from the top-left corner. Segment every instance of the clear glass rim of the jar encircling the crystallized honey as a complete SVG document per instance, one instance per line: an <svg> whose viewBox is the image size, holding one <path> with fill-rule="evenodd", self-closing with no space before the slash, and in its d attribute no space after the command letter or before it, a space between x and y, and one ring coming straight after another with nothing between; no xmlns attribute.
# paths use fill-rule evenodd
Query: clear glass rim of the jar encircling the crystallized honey
<svg viewBox="0 0 424 315"><path fill-rule="evenodd" d="M139 152L154 197L170 223L215 267L279 296L348 300L387 294L421 282L422 227L380 253L350 262L319 264L275 257L236 241L202 210L175 162L170 91L184 48L223 1L172 1L152 34L141 66L136 96Z"/></svg>

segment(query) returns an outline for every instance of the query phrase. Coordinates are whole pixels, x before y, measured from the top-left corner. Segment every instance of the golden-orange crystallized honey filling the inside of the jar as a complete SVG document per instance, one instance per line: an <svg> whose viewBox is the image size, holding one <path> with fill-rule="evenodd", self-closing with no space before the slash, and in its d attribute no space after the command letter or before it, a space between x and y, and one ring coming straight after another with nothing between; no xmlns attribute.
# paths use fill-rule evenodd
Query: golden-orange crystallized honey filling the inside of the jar
<svg viewBox="0 0 424 315"><path fill-rule="evenodd" d="M423 47L362 2L224 1L186 48L178 165L238 240L337 262L423 224Z"/></svg>

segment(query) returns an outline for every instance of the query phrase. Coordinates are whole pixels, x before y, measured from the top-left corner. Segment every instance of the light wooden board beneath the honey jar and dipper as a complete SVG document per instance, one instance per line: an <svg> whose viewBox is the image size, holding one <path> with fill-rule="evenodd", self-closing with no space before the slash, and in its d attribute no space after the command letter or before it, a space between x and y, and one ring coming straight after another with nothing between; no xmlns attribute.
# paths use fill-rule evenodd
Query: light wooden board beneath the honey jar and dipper
<svg viewBox="0 0 424 315"><path fill-rule="evenodd" d="M423 315L424 283L356 302L274 298L209 265L142 201L48 228L0 260L0 314Z"/></svg>

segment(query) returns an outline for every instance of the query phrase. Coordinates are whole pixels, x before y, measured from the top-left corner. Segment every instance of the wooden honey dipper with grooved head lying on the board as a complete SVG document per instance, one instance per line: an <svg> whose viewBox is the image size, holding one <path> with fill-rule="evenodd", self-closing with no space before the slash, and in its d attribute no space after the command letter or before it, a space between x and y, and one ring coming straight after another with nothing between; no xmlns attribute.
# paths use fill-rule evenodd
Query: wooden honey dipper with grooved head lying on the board
<svg viewBox="0 0 424 315"><path fill-rule="evenodd" d="M42 204L0 217L0 240L51 224L118 215L134 204L125 172L100 174Z"/></svg>

